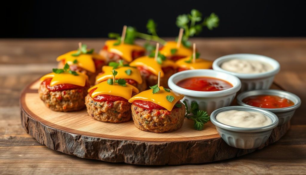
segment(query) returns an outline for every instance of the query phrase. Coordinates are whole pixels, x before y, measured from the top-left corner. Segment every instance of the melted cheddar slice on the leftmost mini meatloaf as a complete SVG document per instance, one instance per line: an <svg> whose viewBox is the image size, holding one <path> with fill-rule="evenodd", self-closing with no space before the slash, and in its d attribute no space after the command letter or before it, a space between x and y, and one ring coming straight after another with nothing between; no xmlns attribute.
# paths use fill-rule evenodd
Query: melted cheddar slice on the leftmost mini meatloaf
<svg viewBox="0 0 306 175"><path fill-rule="evenodd" d="M61 74L55 74L54 72L44 75L40 78L40 81L44 81L47 78L52 78L50 86L59 84L73 84L77 86L85 86L87 75L78 72L79 75L69 74L68 72L63 72Z"/></svg>

